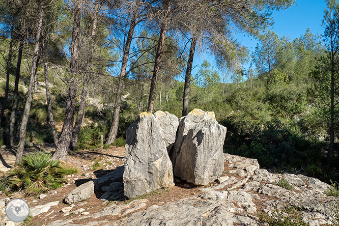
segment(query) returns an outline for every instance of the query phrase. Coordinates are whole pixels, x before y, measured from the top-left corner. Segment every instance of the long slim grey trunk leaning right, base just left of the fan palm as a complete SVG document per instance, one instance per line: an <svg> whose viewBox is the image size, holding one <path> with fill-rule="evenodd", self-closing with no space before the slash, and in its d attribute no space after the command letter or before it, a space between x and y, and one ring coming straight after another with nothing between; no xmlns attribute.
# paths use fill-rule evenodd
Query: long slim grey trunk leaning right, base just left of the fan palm
<svg viewBox="0 0 339 226"><path fill-rule="evenodd" d="M36 67L38 64L38 54L40 50L40 39L41 39L41 32L42 32L42 18L43 18L43 9L42 9L43 1L40 2L39 5L39 22L38 22L38 30L35 38L35 48L32 60L32 68L31 68L31 76L30 76L30 84L27 91L27 98L26 103L24 106L22 121L20 125L20 138L19 138L19 147L16 154L15 164L18 164L22 159L23 149L26 140L26 129L27 129L27 122L30 116L31 104L33 99L33 88L34 88L34 78L36 74Z"/></svg>

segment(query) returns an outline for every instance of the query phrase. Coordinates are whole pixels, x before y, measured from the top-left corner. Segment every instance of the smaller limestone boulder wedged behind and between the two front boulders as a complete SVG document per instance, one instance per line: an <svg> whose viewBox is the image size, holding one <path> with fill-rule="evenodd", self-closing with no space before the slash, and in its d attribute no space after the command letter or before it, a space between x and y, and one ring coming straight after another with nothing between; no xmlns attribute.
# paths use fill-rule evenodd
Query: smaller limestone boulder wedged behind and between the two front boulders
<svg viewBox="0 0 339 226"><path fill-rule="evenodd" d="M170 150L176 140L179 119L175 115L161 110L155 112L154 116L160 125L162 138L166 144L167 152L170 153Z"/></svg>

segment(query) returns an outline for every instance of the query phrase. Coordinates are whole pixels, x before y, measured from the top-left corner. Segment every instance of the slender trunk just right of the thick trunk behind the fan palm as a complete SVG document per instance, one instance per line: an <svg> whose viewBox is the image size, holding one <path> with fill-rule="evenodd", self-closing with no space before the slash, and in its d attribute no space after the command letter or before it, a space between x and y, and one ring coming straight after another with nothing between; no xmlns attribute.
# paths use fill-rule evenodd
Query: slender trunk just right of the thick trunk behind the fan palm
<svg viewBox="0 0 339 226"><path fill-rule="evenodd" d="M83 118L84 118L84 114L85 114L85 110L86 110L88 83L90 81L94 41L95 41L95 35L96 35L96 30L97 30L98 8L99 8L99 5L96 2L95 8L94 8L95 14L94 14L94 18L93 18L92 32L91 32L91 36L90 36L91 43L90 43L90 50L89 50L89 54L88 54L88 62L87 62L87 70L86 70L87 76L86 76L85 81L83 83L78 114L76 116L75 124L74 124L73 131L72 131L71 146L70 146L70 148L72 150L76 149L76 146L78 144L78 137L79 137L79 134L80 134L80 128L81 128Z"/></svg>

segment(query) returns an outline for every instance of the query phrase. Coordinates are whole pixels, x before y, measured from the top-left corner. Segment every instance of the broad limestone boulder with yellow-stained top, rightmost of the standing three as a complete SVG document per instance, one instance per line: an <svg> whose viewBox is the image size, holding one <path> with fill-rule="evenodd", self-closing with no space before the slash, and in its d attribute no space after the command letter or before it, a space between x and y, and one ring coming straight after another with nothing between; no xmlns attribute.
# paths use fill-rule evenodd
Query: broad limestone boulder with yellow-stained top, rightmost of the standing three
<svg viewBox="0 0 339 226"><path fill-rule="evenodd" d="M171 152L174 175L196 185L216 180L223 171L226 128L214 112L194 109L180 119L178 136Z"/></svg>

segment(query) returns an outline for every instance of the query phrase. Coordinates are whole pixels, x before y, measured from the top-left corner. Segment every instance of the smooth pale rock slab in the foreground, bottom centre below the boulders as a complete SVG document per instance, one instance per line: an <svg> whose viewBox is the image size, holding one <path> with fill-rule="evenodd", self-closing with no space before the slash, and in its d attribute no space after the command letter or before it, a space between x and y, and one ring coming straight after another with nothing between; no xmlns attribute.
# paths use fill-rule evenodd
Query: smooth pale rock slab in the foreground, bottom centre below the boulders
<svg viewBox="0 0 339 226"><path fill-rule="evenodd" d="M218 197L212 199L211 197ZM117 225L191 225L212 226L224 225L260 225L249 215L241 216L233 212L241 212L233 203L227 201L227 192L214 191L214 193L191 197L177 202L167 203L163 206L151 206L145 211L133 213L129 217L117 221ZM111 224L114 225L114 224Z"/></svg>

